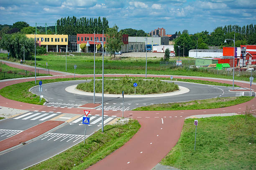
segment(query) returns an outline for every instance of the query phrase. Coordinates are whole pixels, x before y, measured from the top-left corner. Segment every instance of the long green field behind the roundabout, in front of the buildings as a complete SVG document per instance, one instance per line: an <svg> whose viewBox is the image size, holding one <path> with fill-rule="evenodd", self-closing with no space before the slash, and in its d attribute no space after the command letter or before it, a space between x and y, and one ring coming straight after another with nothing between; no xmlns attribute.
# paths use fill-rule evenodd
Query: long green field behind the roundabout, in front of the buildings
<svg viewBox="0 0 256 170"><path fill-rule="evenodd" d="M88 56L87 56L88 55ZM0 54L0 59L8 60L6 54ZM13 58L10 61L19 62ZM77 74L93 74L93 56L91 54L84 53L83 55L67 56L67 72L74 73L74 65L77 65ZM215 77L215 78L226 78L233 79L231 72L219 71L215 69L197 69L196 67L189 68L189 62L195 63L194 59L189 57L182 58L184 67L162 67L159 65L159 58L148 58L147 61L147 74L156 75L187 75L187 76L198 76L198 77ZM172 58L172 62L176 62L176 58ZM189 62L188 62L189 61ZM64 53L61 55L38 55L37 66L46 67L45 63L48 62L50 69L65 71L66 57ZM112 60L111 57L104 57L104 73L110 74L145 74L146 61L144 57L125 57L121 60ZM34 61L27 60L26 64L34 65ZM102 57L96 56L95 60L95 73L102 73ZM220 74L221 73L221 74ZM256 77L256 72L253 76ZM236 80L249 81L251 76L250 72L235 72ZM253 80L256 82L256 80Z"/></svg>

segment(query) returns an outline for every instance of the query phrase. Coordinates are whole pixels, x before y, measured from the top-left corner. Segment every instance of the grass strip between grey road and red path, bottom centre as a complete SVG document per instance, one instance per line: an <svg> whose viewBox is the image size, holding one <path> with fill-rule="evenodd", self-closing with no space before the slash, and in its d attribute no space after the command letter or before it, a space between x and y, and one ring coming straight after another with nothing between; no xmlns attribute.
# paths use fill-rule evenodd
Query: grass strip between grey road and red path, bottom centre
<svg viewBox="0 0 256 170"><path fill-rule="evenodd" d="M106 125L83 142L28 170L84 170L123 146L139 130L137 120L125 125Z"/></svg>

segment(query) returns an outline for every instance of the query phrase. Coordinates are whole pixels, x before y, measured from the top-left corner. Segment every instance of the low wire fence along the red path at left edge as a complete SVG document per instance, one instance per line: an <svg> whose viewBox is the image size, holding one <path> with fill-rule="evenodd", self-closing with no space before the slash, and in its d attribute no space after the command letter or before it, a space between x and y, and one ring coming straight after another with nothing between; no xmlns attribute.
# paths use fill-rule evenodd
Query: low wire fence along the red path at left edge
<svg viewBox="0 0 256 170"><path fill-rule="evenodd" d="M40 72L41 71L41 72ZM39 75L50 75L48 69L36 69L37 76ZM20 77L33 77L35 75L35 70L9 70L0 72L0 80L9 78L20 78Z"/></svg>

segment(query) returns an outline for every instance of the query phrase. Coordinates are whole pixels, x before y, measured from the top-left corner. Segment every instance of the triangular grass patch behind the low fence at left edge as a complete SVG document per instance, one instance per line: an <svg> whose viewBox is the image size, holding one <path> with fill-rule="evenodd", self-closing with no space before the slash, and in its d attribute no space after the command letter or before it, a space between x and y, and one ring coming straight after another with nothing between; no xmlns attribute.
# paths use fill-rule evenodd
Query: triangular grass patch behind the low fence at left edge
<svg viewBox="0 0 256 170"><path fill-rule="evenodd" d="M45 76L48 74L36 73L37 76ZM0 63L0 80L10 79L10 78L20 78L20 77L34 77L35 72L17 69L15 67L10 67L6 64Z"/></svg>

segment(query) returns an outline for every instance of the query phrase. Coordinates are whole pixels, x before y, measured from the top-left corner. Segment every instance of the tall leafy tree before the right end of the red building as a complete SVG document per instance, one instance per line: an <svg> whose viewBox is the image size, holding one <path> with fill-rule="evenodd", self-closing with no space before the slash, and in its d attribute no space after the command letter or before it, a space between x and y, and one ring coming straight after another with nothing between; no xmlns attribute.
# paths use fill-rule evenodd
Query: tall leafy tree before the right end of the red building
<svg viewBox="0 0 256 170"><path fill-rule="evenodd" d="M113 28L108 28L107 35L107 50L111 54L114 53L115 57L115 51L121 50L121 46L123 45L123 33L122 31L118 32L118 26L114 25Z"/></svg>

